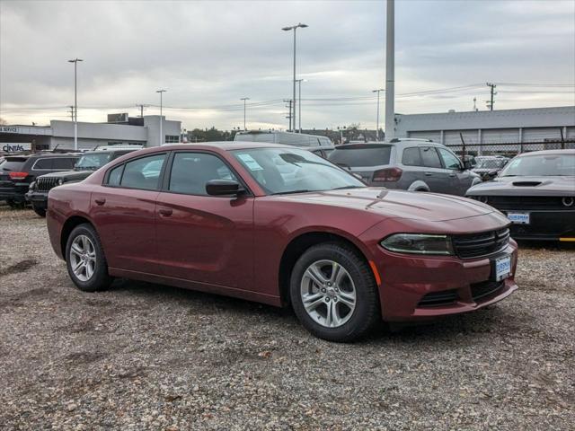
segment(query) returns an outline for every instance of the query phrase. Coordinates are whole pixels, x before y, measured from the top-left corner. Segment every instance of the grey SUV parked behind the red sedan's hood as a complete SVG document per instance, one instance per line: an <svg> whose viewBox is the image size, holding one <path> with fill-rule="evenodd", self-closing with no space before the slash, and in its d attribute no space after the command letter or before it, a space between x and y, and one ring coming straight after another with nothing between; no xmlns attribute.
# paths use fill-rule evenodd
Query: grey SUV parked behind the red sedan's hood
<svg viewBox="0 0 575 431"><path fill-rule="evenodd" d="M328 159L370 186L464 196L481 182L445 145L422 139L339 145Z"/></svg>

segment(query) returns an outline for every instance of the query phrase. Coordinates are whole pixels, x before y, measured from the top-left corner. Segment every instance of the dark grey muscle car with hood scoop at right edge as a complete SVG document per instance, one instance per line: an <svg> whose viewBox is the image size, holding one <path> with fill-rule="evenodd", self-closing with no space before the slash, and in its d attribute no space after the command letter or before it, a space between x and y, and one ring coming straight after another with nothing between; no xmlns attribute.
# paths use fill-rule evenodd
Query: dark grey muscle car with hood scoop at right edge
<svg viewBox="0 0 575 431"><path fill-rule="evenodd" d="M508 216L515 239L575 241L575 150L517 155L467 196Z"/></svg>

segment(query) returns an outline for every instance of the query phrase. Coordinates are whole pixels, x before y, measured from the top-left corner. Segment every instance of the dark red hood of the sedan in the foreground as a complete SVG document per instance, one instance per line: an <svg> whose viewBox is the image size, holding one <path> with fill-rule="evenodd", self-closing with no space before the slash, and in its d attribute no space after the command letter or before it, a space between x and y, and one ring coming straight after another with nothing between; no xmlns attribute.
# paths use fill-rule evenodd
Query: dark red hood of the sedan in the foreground
<svg viewBox="0 0 575 431"><path fill-rule="evenodd" d="M466 198L383 188L341 189L283 195L274 198L369 211L385 218L447 221L483 216L492 207Z"/></svg>

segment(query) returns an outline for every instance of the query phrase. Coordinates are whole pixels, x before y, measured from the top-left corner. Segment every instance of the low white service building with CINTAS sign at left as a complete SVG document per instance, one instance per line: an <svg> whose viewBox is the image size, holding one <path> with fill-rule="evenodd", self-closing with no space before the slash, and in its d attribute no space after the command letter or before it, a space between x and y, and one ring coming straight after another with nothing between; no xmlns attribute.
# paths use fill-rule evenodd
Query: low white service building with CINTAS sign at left
<svg viewBox="0 0 575 431"><path fill-rule="evenodd" d="M180 142L181 122L162 117L162 134L165 144ZM158 146L160 143L160 116L147 115L128 118L123 122L85 123L78 122L78 149L89 150L98 145L137 144ZM74 122L51 120L50 125L0 126L0 151L11 149L53 150L74 149Z"/></svg>

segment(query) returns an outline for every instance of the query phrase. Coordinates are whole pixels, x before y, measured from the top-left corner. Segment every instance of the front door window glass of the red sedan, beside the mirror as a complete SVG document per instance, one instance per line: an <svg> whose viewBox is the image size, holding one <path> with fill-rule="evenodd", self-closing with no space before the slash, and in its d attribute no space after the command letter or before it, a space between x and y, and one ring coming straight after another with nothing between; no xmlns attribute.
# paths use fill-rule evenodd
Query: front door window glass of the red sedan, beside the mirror
<svg viewBox="0 0 575 431"><path fill-rule="evenodd" d="M237 180L219 157L204 153L177 153L173 156L168 189L189 195L208 195L209 180Z"/></svg>

